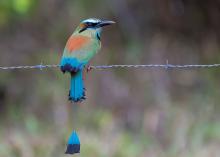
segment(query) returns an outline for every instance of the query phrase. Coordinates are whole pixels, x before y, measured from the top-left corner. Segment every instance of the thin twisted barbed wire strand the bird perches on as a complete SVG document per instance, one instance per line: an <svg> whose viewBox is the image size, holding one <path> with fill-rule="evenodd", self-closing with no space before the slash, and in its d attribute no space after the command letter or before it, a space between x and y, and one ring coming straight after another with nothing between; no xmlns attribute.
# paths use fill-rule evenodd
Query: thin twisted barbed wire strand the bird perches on
<svg viewBox="0 0 220 157"><path fill-rule="evenodd" d="M46 68L59 68L60 65L53 64L53 65L25 65L25 66L0 66L0 70L16 70L16 69L46 69ZM103 69L113 69L113 68L164 68L164 69L195 69L195 68L215 68L220 67L220 64L169 64L168 60L166 64L118 64L118 65L92 65L90 66L91 69L103 70Z"/></svg>

